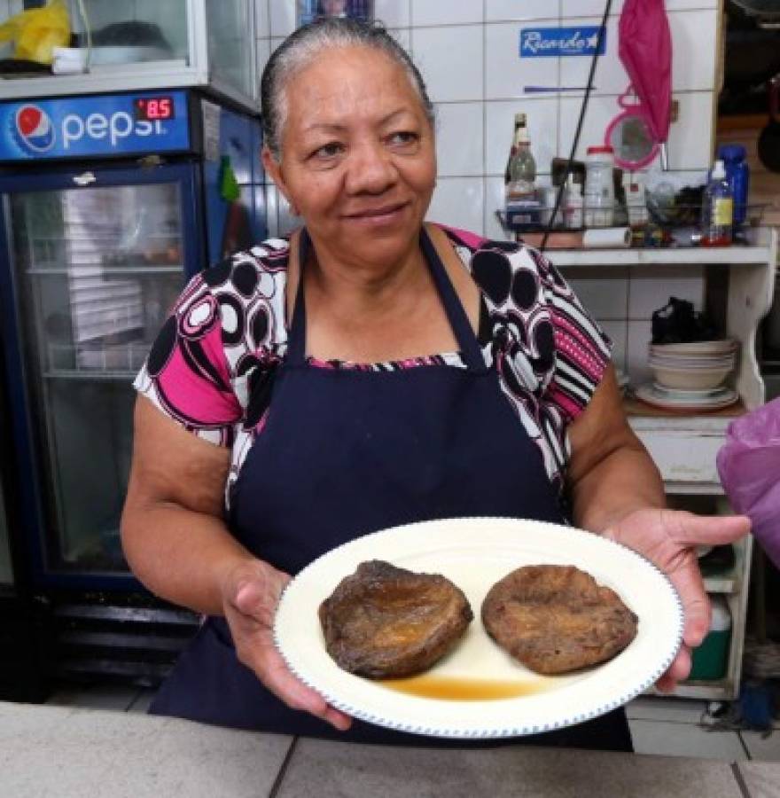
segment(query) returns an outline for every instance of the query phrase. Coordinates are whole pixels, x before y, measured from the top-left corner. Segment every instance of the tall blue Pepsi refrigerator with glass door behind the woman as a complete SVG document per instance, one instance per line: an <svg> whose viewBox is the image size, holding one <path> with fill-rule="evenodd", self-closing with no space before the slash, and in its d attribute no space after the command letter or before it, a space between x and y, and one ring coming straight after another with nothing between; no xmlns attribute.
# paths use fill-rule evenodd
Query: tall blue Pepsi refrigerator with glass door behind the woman
<svg viewBox="0 0 780 798"><path fill-rule="evenodd" d="M264 238L260 149L194 90L0 103L8 536L60 672L153 681L191 633L121 552L132 381L185 281Z"/></svg>

